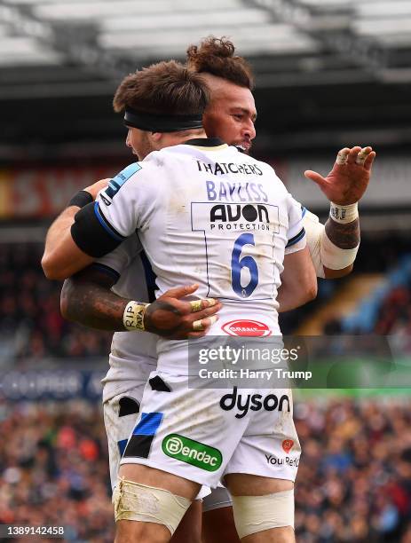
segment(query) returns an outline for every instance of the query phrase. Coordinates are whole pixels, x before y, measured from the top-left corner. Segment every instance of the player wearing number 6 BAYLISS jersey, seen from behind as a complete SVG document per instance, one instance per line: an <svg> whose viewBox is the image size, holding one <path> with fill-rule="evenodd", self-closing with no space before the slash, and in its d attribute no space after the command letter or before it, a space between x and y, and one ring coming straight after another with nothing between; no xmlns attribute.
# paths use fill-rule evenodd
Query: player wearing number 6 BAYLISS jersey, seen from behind
<svg viewBox="0 0 411 543"><path fill-rule="evenodd" d="M174 86L170 84L173 77L176 78ZM187 102L202 89L200 81L198 75L190 75L185 68L171 62L150 67L125 82L126 87L132 83L138 105L138 109L135 104L132 108L126 105L125 121L133 127L133 146L138 155L144 157L148 153L148 156L115 177L107 190L100 193L95 205L85 206L75 216L71 233L67 227L59 230L57 243L61 252L51 251L51 260L57 256L60 262L63 257L65 262L61 269L65 272L67 267L72 267L74 258L79 269L90 264L93 256L102 256L115 248L137 226L161 292L166 286L175 286L176 281L186 282L198 273L202 291L226 298L221 310L225 319L239 316L259 319L270 333L279 334L275 297L284 250L289 253L288 261L303 271L300 288L304 291L304 300L312 297L316 290L314 271L304 248L301 208L268 165L220 141L202 139L205 133L194 130L199 126L201 104L196 115L194 111L192 115L181 115L182 111L190 111ZM192 92L186 90L188 83ZM176 120L186 127L186 133L168 133L168 130L176 130ZM194 136L197 139L192 139ZM150 153L152 150L160 151ZM225 210L228 215L234 211L242 214L241 223L222 224L220 228L220 221L226 221L222 216L218 218L217 209L222 213ZM257 218L256 213L261 217ZM217 232L213 228L217 224L210 224L215 221ZM55 234L56 229L51 227L46 255L56 243ZM241 279L243 267L249 270L247 284L244 277ZM230 269L228 277L226 270ZM126 325L141 325L144 311L141 304L130 302L125 311ZM224 330L217 324L211 327L214 334L224 334ZM250 419L239 423L233 413L221 409L218 404L221 394L217 391L187 389L186 368L182 362L185 345L160 340L157 350L159 366L151 376L156 385L146 387L143 413L124 453L131 464L124 468L123 476L138 483L122 481L117 486L118 540L169 540L170 532L175 530L201 485L214 487L223 475L233 491L234 515L241 537L257 540L256 532L264 530L265 540L292 540L291 489L296 464L284 469L284 479L274 479L277 474L261 455L257 458L255 454L257 446L267 453L273 447L281 449L284 435L273 436L276 418L268 411L253 416L257 436L249 435L247 443L243 442ZM295 449L290 456L297 458L299 444L293 431L290 401L284 397L288 409L279 414L283 418L281 426L288 437L294 437ZM206 447L209 452L216 452L218 448L221 453L217 454L218 461L214 459L217 464L214 462L213 469L207 470L202 461L195 465L193 461L170 458L160 446L170 438L170 432L186 436L192 444L202 439L202 448ZM202 451L202 456L204 454ZM256 458L251 461L253 456ZM237 471L242 475L236 475ZM253 499L256 494L263 496ZM135 496L137 501L132 503ZM261 508L260 498L264 498L269 507ZM139 512L134 511L136 506Z"/></svg>

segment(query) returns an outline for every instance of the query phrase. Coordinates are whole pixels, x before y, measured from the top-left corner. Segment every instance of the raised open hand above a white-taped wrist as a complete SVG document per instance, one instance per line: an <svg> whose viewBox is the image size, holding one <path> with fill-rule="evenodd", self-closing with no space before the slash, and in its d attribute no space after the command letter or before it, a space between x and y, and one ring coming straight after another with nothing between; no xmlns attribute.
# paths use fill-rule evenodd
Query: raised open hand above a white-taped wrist
<svg viewBox="0 0 411 543"><path fill-rule="evenodd" d="M366 192L375 159L372 147L344 147L327 177L307 169L304 176L320 186L329 201L346 206L359 201Z"/></svg>

